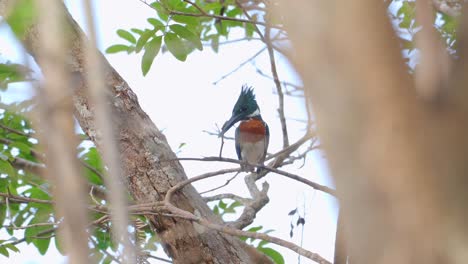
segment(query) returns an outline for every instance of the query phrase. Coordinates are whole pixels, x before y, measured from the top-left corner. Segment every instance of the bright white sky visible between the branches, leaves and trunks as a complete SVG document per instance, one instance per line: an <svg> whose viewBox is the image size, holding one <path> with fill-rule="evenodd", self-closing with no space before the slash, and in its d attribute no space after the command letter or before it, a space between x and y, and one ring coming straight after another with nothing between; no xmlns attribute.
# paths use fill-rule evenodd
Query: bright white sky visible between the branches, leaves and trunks
<svg viewBox="0 0 468 264"><path fill-rule="evenodd" d="M65 1L75 19L85 28L82 19L81 1ZM119 28L142 28L147 26L146 18L154 11L138 0L100 0L94 1L96 7L99 47L105 50L108 46L124 43L115 31ZM21 51L15 43L8 29L0 26L2 40L0 42L0 60L13 62L22 61ZM241 42L221 46L218 54L210 47L202 52L194 52L188 56L186 62L177 61L171 54L159 54L146 77L140 70L140 55L116 54L106 56L112 66L129 83L137 94L140 105L152 118L159 129L164 131L167 139L176 151L181 143L186 145L178 154L180 157L203 157L218 154L220 141L203 130L215 131L216 124L221 126L231 114L232 107L239 95L242 84L249 84L255 88L257 101L262 111L262 117L270 126L269 152L277 152L281 148L281 128L277 115L278 101L274 84L271 80L256 73L252 64L232 74L216 86L212 83L221 76L236 68L240 63L255 54L263 46L260 42ZM282 80L298 83L288 63L278 55L279 75ZM263 72L269 73L267 53L263 53L256 60L256 65ZM24 95L25 89L15 85L9 89L9 98L17 99ZM2 99L5 96L2 95ZM295 120L306 120L306 112L301 99L286 98L286 117L290 141L294 142L304 132L305 123ZM232 129L233 130L233 129ZM231 134L230 134L231 133ZM232 136L232 132L228 136ZM226 142L224 156L235 158L232 142ZM331 185L327 178L326 166L321 153L309 155L303 168L299 164L285 169L321 184ZM232 164L184 162L184 169L188 177L193 177L208 171L233 167ZM220 177L210 181L197 183L200 191L211 189L223 184L230 176ZM302 215L306 214L303 246L317 252L328 260L332 260L335 236L336 209L335 200L329 195L311 190L297 182L279 175L269 175L265 179L270 184L270 203L258 214L253 226L262 225L264 230L273 229L270 233L283 239L289 238L291 219L288 212L298 207ZM261 182L259 182L259 185ZM242 177L238 177L231 185L220 192L231 192L247 195ZM305 208L305 211L304 211ZM293 224L297 219L293 219ZM4 239L4 232L0 239ZM296 229L291 241L300 244L300 229ZM51 243L53 246L53 243ZM286 259L286 263L297 263L297 254L276 247ZM33 247L20 246L21 253L12 254L10 258L0 256L0 263L63 263L64 258L55 249L49 249L45 256L40 256ZM157 262L154 262L157 263ZM301 258L301 263L313 263Z"/></svg>

